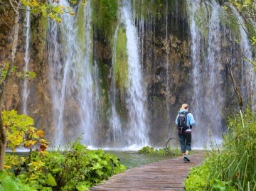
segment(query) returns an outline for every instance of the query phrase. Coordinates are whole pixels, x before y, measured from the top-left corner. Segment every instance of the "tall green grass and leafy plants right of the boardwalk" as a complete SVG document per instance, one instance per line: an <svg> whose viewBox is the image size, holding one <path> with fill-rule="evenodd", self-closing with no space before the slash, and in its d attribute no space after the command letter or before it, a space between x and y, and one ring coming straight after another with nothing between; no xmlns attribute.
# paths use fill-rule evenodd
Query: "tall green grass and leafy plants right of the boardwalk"
<svg viewBox="0 0 256 191"><path fill-rule="evenodd" d="M203 165L191 170L186 190L256 189L256 114L247 109L242 118L228 119L228 127L223 148L213 149Z"/></svg>

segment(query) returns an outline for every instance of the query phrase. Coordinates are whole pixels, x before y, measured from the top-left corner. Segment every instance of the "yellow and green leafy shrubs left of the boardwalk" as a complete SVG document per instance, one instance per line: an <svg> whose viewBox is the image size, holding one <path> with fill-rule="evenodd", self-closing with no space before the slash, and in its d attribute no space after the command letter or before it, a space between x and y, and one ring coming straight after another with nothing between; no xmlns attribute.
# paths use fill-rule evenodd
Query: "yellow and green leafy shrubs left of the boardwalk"
<svg viewBox="0 0 256 191"><path fill-rule="evenodd" d="M7 183L3 178L0 191L6 185L19 190L19 185L23 184L28 185L28 190L88 190L92 185L125 170L115 155L102 150L88 151L79 138L69 143L64 151L56 149L48 152L44 132L33 127L33 119L18 115L14 110L3 111L2 114L7 146L13 151L21 146L30 151L26 157L6 155L4 168L18 179L4 174Z"/></svg>

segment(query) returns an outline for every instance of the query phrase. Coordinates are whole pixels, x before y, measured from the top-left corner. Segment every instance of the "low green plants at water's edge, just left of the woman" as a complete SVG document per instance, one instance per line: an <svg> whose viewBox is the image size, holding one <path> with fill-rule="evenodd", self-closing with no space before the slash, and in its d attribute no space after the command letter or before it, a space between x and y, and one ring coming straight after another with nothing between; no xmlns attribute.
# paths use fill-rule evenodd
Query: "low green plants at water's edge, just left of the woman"
<svg viewBox="0 0 256 191"><path fill-rule="evenodd" d="M171 148L170 146L167 149L159 148L159 150L149 146L145 146L139 151L137 151L137 153L146 154L146 155L173 155L173 156L181 155L181 152L178 151L178 149Z"/></svg>

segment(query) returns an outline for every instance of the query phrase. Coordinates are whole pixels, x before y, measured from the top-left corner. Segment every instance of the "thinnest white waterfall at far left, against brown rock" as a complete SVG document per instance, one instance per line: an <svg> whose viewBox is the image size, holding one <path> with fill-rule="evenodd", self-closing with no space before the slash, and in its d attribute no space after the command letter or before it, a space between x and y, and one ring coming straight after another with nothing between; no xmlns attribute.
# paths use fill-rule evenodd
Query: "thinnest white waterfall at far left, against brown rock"
<svg viewBox="0 0 256 191"><path fill-rule="evenodd" d="M25 28L26 28L26 45L25 45L25 57L24 57L24 62L25 62L25 66L24 66L24 71L28 71L29 67L29 42L30 42L30 7L27 6L26 7L27 11L26 11L26 18L25 18ZM23 94L22 94L22 103L23 103L23 114L28 114L28 95L29 95L29 89L28 89L28 80L24 79L23 82Z"/></svg>

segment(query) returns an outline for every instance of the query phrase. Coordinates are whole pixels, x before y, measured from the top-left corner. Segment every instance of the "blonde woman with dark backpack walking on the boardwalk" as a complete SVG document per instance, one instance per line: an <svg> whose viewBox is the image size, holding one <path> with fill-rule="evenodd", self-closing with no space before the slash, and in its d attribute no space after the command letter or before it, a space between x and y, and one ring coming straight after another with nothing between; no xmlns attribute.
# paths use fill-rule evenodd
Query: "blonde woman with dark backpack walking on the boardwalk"
<svg viewBox="0 0 256 191"><path fill-rule="evenodd" d="M196 124L193 114L188 112L188 104L182 104L175 120L178 126L178 140L181 146L183 162L189 162L189 151L191 151L191 129ZM184 124L183 124L184 123Z"/></svg>

